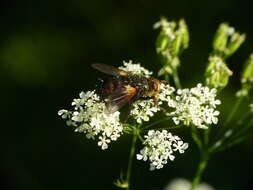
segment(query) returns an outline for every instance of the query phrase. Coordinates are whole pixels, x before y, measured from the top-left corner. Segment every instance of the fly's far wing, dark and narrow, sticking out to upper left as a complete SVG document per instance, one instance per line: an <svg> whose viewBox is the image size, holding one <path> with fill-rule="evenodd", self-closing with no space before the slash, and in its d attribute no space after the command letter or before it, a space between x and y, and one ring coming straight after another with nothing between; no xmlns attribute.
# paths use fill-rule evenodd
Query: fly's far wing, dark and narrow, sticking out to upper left
<svg viewBox="0 0 253 190"><path fill-rule="evenodd" d="M128 75L128 72L118 69L116 67L110 66L110 65L106 65L106 64L94 63L94 64L91 64L91 66L102 73L106 73L113 76Z"/></svg>

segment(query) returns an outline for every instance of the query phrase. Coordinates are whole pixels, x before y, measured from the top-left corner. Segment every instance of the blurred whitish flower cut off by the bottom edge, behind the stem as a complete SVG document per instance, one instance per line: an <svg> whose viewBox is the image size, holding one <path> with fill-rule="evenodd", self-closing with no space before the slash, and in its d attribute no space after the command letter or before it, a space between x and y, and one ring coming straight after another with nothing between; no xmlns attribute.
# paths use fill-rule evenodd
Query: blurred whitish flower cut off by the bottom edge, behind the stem
<svg viewBox="0 0 253 190"><path fill-rule="evenodd" d="M173 179L165 188L164 190L189 190L191 189L191 182L183 179ZM214 190L212 186L206 183L198 184L195 190Z"/></svg>

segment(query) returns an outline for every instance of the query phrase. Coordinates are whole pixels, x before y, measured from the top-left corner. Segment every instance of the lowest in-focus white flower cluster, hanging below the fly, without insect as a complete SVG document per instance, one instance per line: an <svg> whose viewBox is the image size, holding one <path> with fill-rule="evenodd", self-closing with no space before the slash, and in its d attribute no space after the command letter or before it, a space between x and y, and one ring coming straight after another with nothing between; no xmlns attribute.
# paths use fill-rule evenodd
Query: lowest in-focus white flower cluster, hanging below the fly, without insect
<svg viewBox="0 0 253 190"><path fill-rule="evenodd" d="M187 143L166 130L150 130L148 135L144 137L144 148L136 156L138 160L149 160L151 162L150 170L163 168L168 160L175 159L174 152L184 153L188 148Z"/></svg>

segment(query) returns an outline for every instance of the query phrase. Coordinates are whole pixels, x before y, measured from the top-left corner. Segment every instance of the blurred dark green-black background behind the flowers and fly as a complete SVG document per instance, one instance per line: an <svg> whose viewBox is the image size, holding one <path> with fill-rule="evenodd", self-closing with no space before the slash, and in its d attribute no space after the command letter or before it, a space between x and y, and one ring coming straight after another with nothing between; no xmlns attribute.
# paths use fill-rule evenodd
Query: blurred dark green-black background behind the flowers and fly
<svg viewBox="0 0 253 190"><path fill-rule="evenodd" d="M182 57L184 87L203 80L214 32L226 21L247 41L229 60L233 79L222 97L227 107L239 88L239 69L253 47L253 14L248 1L237 0L107 0L1 1L0 189L117 189L112 186L126 169L130 138L121 137L106 151L95 141L73 132L57 116L69 108L81 90L93 89L98 72L93 62L119 66L122 60L159 69L155 54L160 16L185 18L191 35ZM99 76L98 76L99 75ZM227 111L226 111L227 110ZM133 189L159 190L175 177L191 179L198 152L190 148L164 169L149 172L134 161ZM252 186L252 140L217 154L204 181L219 190L249 190Z"/></svg>

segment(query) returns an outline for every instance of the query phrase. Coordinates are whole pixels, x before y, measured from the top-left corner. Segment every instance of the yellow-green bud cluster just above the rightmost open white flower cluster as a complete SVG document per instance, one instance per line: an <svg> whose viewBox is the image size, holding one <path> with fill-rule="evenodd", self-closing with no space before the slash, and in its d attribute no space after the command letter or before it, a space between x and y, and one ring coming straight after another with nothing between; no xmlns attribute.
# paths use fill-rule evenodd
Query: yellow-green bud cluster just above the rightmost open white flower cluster
<svg viewBox="0 0 253 190"><path fill-rule="evenodd" d="M227 86L233 72L219 56L210 56L206 68L206 85L211 88L223 89Z"/></svg>

